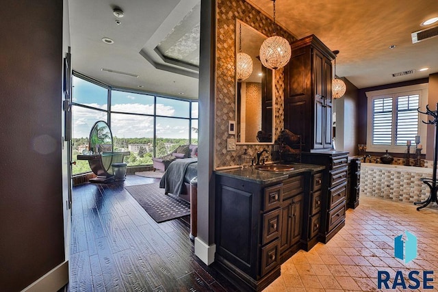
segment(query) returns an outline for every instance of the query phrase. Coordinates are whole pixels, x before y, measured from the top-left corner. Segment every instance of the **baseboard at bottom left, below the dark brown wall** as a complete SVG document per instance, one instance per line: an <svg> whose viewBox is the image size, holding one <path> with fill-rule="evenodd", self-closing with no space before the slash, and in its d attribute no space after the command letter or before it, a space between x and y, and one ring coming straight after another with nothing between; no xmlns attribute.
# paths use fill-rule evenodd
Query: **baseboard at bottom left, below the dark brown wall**
<svg viewBox="0 0 438 292"><path fill-rule="evenodd" d="M68 261L64 261L47 274L27 286L22 292L39 292L60 290L68 283Z"/></svg>

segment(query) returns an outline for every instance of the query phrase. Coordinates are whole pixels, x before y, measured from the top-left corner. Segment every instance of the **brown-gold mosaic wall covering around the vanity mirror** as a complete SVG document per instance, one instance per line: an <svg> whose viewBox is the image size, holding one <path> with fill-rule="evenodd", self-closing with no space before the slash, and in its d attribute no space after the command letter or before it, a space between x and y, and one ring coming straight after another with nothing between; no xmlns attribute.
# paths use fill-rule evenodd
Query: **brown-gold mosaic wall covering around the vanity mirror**
<svg viewBox="0 0 438 292"><path fill-rule="evenodd" d="M261 14L244 0L218 0L217 40L216 40L216 144L215 167L238 165L244 145L237 145L235 151L227 151L227 138L234 137L228 133L229 120L235 120L235 23L243 21L266 36L274 34L273 21ZM276 34L293 42L296 40L281 27L276 27ZM283 69L275 71L275 124L274 137L283 129L284 75ZM267 148L272 153L272 145L245 145L250 154ZM269 159L270 160L270 159Z"/></svg>

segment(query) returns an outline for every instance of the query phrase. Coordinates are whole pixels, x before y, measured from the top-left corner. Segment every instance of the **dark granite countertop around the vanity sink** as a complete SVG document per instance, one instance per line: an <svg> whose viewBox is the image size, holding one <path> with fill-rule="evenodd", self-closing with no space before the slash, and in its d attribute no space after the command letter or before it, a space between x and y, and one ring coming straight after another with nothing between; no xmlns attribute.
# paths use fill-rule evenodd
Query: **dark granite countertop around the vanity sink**
<svg viewBox="0 0 438 292"><path fill-rule="evenodd" d="M253 183L259 183L266 185L268 183L276 183L277 181L283 181L289 176L299 174L301 172L324 170L325 166L294 163L294 170L287 170L285 172L268 172L266 170L257 170L253 166L249 168L233 168L230 170L216 170L215 173L222 176L229 176L232 178L239 178L244 181L250 181Z"/></svg>

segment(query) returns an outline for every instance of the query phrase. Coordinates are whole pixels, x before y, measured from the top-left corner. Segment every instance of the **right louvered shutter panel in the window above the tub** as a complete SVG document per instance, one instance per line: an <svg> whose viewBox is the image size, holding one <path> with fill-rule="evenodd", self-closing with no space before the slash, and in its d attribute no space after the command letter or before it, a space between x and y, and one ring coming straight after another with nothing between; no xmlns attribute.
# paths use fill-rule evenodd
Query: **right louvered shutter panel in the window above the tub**
<svg viewBox="0 0 438 292"><path fill-rule="evenodd" d="M397 99L396 145L415 144L418 135L418 111L420 95L399 96Z"/></svg>

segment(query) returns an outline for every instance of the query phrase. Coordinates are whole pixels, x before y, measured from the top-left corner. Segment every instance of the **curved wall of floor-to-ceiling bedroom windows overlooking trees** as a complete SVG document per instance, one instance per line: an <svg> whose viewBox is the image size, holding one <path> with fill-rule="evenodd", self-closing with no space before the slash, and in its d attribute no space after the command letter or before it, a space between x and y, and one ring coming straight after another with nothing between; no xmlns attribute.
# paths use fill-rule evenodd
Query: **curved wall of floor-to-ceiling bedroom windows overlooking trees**
<svg viewBox="0 0 438 292"><path fill-rule="evenodd" d="M114 151L129 151L128 166L151 165L152 157L177 146L198 144L198 102L111 88L77 73L73 76L73 160L88 150L94 122L110 124ZM73 174L90 172L76 161Z"/></svg>

